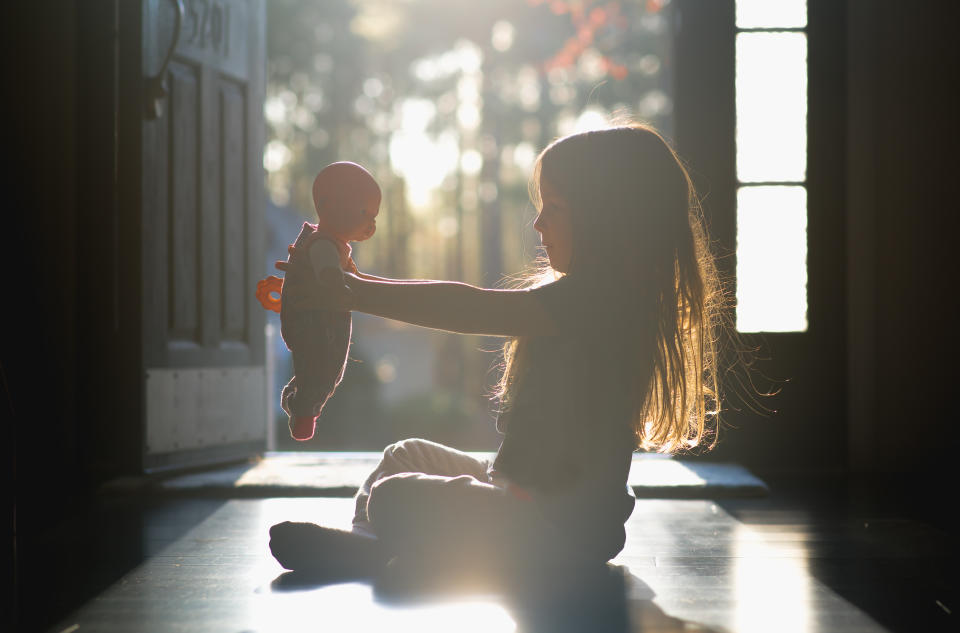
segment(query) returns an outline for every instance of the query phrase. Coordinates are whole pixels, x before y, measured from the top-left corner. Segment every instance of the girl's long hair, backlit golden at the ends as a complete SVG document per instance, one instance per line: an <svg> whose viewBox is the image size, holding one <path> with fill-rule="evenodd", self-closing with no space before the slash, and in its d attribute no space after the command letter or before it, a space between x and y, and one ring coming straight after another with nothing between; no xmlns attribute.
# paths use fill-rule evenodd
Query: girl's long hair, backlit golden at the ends
<svg viewBox="0 0 960 633"><path fill-rule="evenodd" d="M633 124L559 139L537 158L530 194L546 179L572 211L568 272L602 285L619 310L617 364L626 372L636 446L676 452L716 440L717 335L724 293L690 176L655 130ZM527 286L559 277L541 265ZM506 343L496 395L509 407L528 366L529 339Z"/></svg>

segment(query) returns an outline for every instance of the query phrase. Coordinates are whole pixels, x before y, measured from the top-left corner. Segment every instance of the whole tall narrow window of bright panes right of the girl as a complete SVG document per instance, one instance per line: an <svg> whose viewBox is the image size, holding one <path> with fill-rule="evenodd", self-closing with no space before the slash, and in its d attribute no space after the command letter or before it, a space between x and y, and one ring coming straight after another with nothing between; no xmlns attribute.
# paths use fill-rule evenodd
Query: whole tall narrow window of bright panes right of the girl
<svg viewBox="0 0 960 633"><path fill-rule="evenodd" d="M806 0L737 0L737 329L807 329Z"/></svg>

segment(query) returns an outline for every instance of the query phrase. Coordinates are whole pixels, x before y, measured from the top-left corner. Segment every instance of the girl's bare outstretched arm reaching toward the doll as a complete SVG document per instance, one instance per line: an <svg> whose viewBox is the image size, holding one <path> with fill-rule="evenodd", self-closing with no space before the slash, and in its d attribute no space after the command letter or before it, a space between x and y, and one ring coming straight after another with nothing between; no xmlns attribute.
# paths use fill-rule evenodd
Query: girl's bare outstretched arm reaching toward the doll
<svg viewBox="0 0 960 633"><path fill-rule="evenodd" d="M453 281L397 281L344 275L347 307L461 334L555 334L552 319L524 290L488 290Z"/></svg>

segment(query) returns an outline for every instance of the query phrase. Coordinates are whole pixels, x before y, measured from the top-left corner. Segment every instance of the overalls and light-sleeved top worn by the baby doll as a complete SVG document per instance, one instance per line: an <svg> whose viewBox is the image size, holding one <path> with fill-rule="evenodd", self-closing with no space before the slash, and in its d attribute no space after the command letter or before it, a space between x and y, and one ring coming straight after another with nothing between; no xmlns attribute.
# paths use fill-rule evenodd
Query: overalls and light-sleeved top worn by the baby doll
<svg viewBox="0 0 960 633"><path fill-rule="evenodd" d="M336 246L341 269L356 272L349 244L318 234L316 226L304 222L291 257L303 257L306 265L287 271L286 279L314 274L307 251L318 239L329 239ZM290 434L294 439L308 440L313 437L316 417L343 379L352 319L349 312L297 309L292 301L283 299L282 290L280 296L280 335L293 356L294 373L280 394L280 404L289 416Z"/></svg>

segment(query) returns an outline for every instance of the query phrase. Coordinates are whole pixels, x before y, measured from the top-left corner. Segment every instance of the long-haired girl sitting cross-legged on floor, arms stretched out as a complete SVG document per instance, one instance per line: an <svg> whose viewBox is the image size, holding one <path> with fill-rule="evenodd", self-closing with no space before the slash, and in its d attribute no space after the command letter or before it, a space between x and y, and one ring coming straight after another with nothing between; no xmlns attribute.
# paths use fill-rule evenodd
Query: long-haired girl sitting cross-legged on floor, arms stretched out
<svg viewBox="0 0 960 633"><path fill-rule="evenodd" d="M287 289L300 305L509 341L496 458L419 439L388 446L356 496L353 531L271 529L284 567L603 563L624 544L633 451L712 436L721 294L676 154L641 125L574 134L540 154L530 191L549 265L526 289L363 274L348 274L348 288Z"/></svg>

